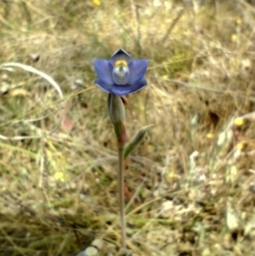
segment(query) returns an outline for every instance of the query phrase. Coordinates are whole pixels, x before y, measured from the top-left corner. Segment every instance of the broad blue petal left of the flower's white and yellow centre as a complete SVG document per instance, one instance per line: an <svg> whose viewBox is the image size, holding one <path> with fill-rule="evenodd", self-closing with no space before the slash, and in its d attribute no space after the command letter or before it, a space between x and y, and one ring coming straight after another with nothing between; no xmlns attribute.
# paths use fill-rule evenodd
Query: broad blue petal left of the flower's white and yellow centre
<svg viewBox="0 0 255 256"><path fill-rule="evenodd" d="M94 69L99 78L107 84L112 84L113 66L108 60L94 60Z"/></svg>

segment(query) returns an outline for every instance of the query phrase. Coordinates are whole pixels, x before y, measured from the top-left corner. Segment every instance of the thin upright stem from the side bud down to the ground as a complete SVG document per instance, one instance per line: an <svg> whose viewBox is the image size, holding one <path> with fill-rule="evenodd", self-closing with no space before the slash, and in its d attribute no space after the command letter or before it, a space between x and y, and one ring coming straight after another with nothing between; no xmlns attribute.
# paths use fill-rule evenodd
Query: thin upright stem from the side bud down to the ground
<svg viewBox="0 0 255 256"><path fill-rule="evenodd" d="M119 191L119 206L121 215L121 228L122 228L122 247L127 247L126 237L126 216L125 216L125 196L124 196L124 147L118 146L118 191Z"/></svg>

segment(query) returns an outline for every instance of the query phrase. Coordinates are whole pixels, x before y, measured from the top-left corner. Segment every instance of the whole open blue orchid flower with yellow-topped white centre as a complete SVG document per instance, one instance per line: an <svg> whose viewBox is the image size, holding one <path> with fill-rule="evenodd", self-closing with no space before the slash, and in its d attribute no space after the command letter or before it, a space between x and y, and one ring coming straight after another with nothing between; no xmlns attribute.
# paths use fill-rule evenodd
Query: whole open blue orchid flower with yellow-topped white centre
<svg viewBox="0 0 255 256"><path fill-rule="evenodd" d="M144 75L148 64L149 60L133 60L120 48L110 60L94 60L94 69L98 75L94 84L110 94L132 94L147 85Z"/></svg>

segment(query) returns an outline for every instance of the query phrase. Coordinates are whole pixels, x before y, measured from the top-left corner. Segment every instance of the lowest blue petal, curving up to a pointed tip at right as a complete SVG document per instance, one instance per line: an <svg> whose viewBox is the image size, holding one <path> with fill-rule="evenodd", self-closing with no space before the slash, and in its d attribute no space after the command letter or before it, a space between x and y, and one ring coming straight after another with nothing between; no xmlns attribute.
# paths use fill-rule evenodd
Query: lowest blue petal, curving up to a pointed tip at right
<svg viewBox="0 0 255 256"><path fill-rule="evenodd" d="M132 94L138 92L140 89L144 88L147 85L147 81L142 78L139 82L135 84L126 84L126 85L114 85L110 91L111 94L116 94L118 96L123 96L127 94Z"/></svg>

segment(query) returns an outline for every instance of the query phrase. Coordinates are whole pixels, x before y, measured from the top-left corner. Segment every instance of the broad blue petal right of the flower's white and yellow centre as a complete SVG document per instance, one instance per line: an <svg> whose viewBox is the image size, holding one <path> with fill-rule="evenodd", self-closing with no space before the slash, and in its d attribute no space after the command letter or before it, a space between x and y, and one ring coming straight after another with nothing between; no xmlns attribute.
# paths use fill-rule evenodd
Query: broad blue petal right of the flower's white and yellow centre
<svg viewBox="0 0 255 256"><path fill-rule="evenodd" d="M139 82L145 75L149 60L133 60L128 65L129 68L129 79L128 83L136 84Z"/></svg>

